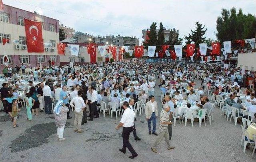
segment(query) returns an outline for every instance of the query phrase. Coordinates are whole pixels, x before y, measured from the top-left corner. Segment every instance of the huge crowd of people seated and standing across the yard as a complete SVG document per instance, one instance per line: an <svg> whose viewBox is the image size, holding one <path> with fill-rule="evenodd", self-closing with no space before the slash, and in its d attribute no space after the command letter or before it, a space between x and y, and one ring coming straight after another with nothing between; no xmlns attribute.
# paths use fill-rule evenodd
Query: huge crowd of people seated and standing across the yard
<svg viewBox="0 0 256 162"><path fill-rule="evenodd" d="M241 69L232 65L224 68L221 64L144 61L88 64L76 68L54 66L52 62L49 65L29 70L23 64L21 67L4 68L4 83L0 89L4 109L1 111L10 116L12 126L18 127L19 107L23 104L26 105L28 121L32 121L33 115L54 113L58 140L64 141L64 127L66 121L72 118L71 109L74 110L74 132L82 133L81 125L99 117L103 102L106 108L110 108L111 103L117 103L118 109L123 111L122 119L116 126L116 129L123 127L124 142L119 150L125 153L128 148L132 153L130 158L138 156L129 142L131 132L135 140L140 140L134 122L135 111L139 109L137 102L144 105L148 134L158 136L151 147L153 152L157 152L156 147L163 137L168 149L174 148L170 144L172 122L180 101L188 101L188 108L195 102L197 113L200 109L207 109L208 114L212 108L208 91L223 98L228 95L225 104L245 109L239 104L241 100L237 96L242 93L248 104L246 111L256 112L256 81L253 81L254 88L248 88L248 77L254 78L253 74L245 72L242 75ZM156 85L158 78L160 84ZM202 80L201 85L196 85L195 80ZM24 82L28 84L24 86ZM158 103L155 100L157 86L162 92L162 100ZM244 91L242 87L245 87ZM19 92L24 92L25 97L22 98ZM159 132L156 131L158 111ZM184 112L178 115L184 115Z"/></svg>

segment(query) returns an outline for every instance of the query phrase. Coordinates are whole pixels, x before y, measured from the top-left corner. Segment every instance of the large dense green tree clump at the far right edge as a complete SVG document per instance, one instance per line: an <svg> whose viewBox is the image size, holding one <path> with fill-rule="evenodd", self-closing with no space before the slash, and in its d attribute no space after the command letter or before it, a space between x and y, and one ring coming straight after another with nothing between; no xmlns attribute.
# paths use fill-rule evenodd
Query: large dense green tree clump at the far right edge
<svg viewBox="0 0 256 162"><path fill-rule="evenodd" d="M216 21L216 37L219 41L233 41L254 38L256 33L256 17L252 14L243 14L242 9L231 8L230 11L222 8L221 16Z"/></svg>

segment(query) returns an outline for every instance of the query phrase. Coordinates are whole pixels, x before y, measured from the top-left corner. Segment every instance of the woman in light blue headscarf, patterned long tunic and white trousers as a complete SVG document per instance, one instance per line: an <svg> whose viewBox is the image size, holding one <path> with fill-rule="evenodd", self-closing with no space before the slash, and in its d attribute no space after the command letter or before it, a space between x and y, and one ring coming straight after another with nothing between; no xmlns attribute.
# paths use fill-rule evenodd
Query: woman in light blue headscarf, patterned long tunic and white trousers
<svg viewBox="0 0 256 162"><path fill-rule="evenodd" d="M69 109L65 106L63 100L59 100L53 109L55 124L57 127L57 136L59 141L64 141L66 139L63 138L63 132L67 122L68 111Z"/></svg>

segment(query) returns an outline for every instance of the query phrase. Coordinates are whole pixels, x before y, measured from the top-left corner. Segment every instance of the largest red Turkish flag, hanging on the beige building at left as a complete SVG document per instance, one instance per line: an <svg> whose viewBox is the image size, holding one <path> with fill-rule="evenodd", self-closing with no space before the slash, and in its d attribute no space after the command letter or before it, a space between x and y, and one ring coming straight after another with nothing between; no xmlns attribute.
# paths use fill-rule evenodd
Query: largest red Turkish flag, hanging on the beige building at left
<svg viewBox="0 0 256 162"><path fill-rule="evenodd" d="M24 24L25 24L28 53L44 52L42 23L24 18Z"/></svg>

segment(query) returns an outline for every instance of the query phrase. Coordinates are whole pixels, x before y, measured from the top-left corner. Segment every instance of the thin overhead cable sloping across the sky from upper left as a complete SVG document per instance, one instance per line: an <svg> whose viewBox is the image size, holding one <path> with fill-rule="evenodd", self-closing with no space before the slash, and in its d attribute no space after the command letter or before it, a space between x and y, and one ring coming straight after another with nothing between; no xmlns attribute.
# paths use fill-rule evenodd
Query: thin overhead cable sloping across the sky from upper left
<svg viewBox="0 0 256 162"><path fill-rule="evenodd" d="M22 3L22 4L26 4L26 5L29 5L29 6L33 6L33 7L37 7L37 8L42 8L42 9L49 10L49 11L52 11L52 12L58 12L58 13L60 13L60 14L65 14L65 15L69 15L69 16L74 16L74 17L78 17L78 18L83 18L83 19L87 19L87 20L92 20L92 21L96 21L96 22L100 22L100 23L107 23L107 24L110 24L110 25L117 25L117 26L122 26L122 27L128 27L128 28L133 28L133 29L140 29L140 30L142 30L141 28L138 28L138 27L132 27L132 26L128 26L128 25L121 25L121 24L117 24L117 23L111 23L111 22L107 22L107 21L102 21L102 20L96 20L96 19L86 18L86 17L84 17L84 16L78 16L78 15L74 15L74 14L70 14L70 13L66 13L66 12L60 12L60 11L56 11L56 10L51 10L51 9L49 9L49 8L44 8L44 7L36 6L36 5L33 5L33 4L28 4L28 3L20 2L20 1L18 1L18 0L12 0L12 1L15 1L15 2L18 2L18 3Z"/></svg>

